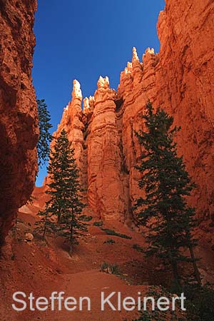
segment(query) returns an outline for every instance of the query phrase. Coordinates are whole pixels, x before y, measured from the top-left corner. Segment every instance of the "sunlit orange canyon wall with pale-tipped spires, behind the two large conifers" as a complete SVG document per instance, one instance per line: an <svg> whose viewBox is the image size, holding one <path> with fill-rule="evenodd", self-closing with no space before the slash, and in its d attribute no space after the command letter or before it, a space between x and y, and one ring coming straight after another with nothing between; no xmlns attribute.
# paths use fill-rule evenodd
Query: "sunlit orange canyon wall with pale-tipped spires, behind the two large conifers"
<svg viewBox="0 0 214 321"><path fill-rule="evenodd" d="M200 220L214 220L214 3L167 0L158 19L161 51L147 49L121 73L118 90L99 78L94 96L85 98L74 81L73 99L61 124L76 148L88 208L98 218L131 224L131 205L139 195L134 169L141 146L134 134L142 128L148 99L163 106L182 130L178 153L198 185L190 202Z"/></svg>

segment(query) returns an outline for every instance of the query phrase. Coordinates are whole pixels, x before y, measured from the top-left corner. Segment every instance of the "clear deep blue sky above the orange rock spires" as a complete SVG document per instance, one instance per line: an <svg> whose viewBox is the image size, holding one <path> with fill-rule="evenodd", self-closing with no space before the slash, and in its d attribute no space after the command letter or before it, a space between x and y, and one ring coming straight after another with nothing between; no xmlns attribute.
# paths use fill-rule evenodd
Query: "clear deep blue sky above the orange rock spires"
<svg viewBox="0 0 214 321"><path fill-rule="evenodd" d="M117 88L133 46L140 58L148 47L159 51L156 23L164 5L164 0L38 0L33 79L54 131L71 100L73 79L84 97L93 95L100 75ZM46 168L39 170L36 185L44 175Z"/></svg>

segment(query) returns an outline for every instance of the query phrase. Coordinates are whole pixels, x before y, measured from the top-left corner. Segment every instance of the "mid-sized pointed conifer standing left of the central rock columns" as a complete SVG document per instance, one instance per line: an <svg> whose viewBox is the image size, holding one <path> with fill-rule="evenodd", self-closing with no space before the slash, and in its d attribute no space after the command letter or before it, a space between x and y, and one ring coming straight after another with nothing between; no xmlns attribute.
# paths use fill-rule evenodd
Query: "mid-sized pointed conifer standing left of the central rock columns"
<svg viewBox="0 0 214 321"><path fill-rule="evenodd" d="M64 129L51 151L48 173L51 183L46 191L50 195L46 211L56 215L56 230L58 235L63 235L69 241L71 254L79 231L86 230L86 224L79 219L85 205L81 202L81 185L74 149L71 148Z"/></svg>

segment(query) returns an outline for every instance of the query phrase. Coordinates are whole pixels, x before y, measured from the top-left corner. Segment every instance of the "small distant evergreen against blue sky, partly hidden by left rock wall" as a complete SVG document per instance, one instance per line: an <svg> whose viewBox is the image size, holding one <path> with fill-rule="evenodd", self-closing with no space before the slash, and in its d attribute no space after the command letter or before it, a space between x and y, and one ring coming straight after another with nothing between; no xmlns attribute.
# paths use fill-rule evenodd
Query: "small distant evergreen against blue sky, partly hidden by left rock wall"
<svg viewBox="0 0 214 321"><path fill-rule="evenodd" d="M39 166L42 166L49 160L49 144L52 136L49 133L52 125L51 116L44 99L37 100L37 110L39 116L39 141L37 143L37 155Z"/></svg>

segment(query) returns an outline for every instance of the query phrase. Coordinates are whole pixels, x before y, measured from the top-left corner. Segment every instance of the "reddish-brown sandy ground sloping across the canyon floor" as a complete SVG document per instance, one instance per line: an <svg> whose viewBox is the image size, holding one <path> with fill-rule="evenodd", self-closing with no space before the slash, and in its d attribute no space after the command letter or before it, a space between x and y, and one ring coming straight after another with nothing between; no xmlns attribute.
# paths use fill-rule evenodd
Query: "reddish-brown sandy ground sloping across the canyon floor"
<svg viewBox="0 0 214 321"><path fill-rule="evenodd" d="M93 226L93 220L88 223L88 233L80 240L72 257L61 238L48 238L47 244L35 238L33 242L26 242L25 233L34 230L37 206L41 204L21 209L16 233L11 233L4 248L4 259L0 263L0 321L133 320L137 313L110 309L101 312L101 291L121 291L124 296L136 297L138 291L146 295L148 285L158 285L160 280L164 283L170 278L157 262L147 260L143 253L133 249L133 244L146 246L143 235L118 222L105 223L104 227L129 235L131 240L106 235ZM108 238L116 243L103 243ZM200 269L205 279L214 280L213 252L203 245L198 247L198 255L203 258ZM117 263L120 277L101 272L103 261ZM64 291L66 296L73 297L86 295L91 297L91 312L14 312L11 304L16 291L26 292L26 295L34 292L36 297L49 297L53 291Z"/></svg>

